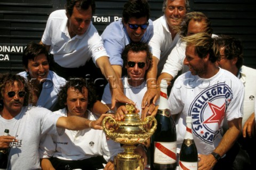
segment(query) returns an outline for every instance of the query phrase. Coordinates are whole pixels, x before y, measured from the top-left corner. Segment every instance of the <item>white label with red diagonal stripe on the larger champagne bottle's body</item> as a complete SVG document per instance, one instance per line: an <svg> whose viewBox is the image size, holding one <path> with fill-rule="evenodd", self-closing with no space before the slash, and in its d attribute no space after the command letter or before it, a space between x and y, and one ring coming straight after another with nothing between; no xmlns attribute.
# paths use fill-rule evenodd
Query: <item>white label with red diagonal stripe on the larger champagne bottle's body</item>
<svg viewBox="0 0 256 170"><path fill-rule="evenodd" d="M176 162L176 142L155 142L154 163L173 164Z"/></svg>

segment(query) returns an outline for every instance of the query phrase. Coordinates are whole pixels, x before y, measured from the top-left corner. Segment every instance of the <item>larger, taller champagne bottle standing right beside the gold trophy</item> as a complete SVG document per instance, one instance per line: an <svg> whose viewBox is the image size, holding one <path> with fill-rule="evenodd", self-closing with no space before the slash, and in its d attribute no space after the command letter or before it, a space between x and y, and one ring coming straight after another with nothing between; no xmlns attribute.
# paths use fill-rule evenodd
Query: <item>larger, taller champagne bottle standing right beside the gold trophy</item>
<svg viewBox="0 0 256 170"><path fill-rule="evenodd" d="M176 169L177 135L175 122L167 105L167 83L161 81L161 95L155 116L157 128L150 141L150 169Z"/></svg>

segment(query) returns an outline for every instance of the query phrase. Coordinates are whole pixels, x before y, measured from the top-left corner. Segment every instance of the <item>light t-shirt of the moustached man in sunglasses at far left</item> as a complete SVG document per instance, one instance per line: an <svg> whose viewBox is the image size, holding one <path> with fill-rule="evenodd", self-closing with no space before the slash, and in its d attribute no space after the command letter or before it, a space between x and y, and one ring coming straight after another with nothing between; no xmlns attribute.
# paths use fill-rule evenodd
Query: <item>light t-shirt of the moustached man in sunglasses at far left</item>
<svg viewBox="0 0 256 170"><path fill-rule="evenodd" d="M45 134L61 135L65 129L57 128L60 115L39 107L23 107L20 114L10 120L0 116L0 135L9 129L9 135L18 142L10 143L8 169L41 169L39 141Z"/></svg>

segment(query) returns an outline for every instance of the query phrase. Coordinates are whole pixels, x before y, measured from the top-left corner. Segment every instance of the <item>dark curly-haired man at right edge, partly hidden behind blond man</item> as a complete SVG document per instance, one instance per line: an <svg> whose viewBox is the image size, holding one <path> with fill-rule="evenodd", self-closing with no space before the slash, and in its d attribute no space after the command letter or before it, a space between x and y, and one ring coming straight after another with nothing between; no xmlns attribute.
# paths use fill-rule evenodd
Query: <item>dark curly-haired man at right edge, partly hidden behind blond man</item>
<svg viewBox="0 0 256 170"><path fill-rule="evenodd" d="M219 46L219 60L217 61L217 66L233 73L237 78L241 80L245 87L242 134L238 138L238 143L241 144L242 149L246 150L251 160L251 167L246 169L256 169L256 162L254 157L256 151L254 115L254 100L256 98L256 70L243 66L243 46L238 39L225 35L222 35L216 39ZM246 158L244 160L246 160ZM241 165L241 161L239 161L238 164ZM243 169L245 169L244 166Z"/></svg>

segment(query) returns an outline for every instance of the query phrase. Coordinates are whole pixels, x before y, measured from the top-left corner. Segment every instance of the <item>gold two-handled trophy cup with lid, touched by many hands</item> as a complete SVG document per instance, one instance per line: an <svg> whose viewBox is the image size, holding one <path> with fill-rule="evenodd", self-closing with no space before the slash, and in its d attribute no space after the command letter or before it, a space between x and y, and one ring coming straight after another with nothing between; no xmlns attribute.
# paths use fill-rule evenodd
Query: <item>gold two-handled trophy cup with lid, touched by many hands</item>
<svg viewBox="0 0 256 170"><path fill-rule="evenodd" d="M143 158L138 153L134 153L136 148L134 144L145 142L156 130L156 119L148 116L144 120L140 119L138 113L135 113L135 107L132 104L126 104L128 111L121 121L108 116L103 119L103 131L112 140L124 144L124 152L118 153L114 158L115 170L143 170ZM108 127L106 126L108 123ZM149 126L153 125L151 128ZM110 127L111 126L111 127Z"/></svg>

